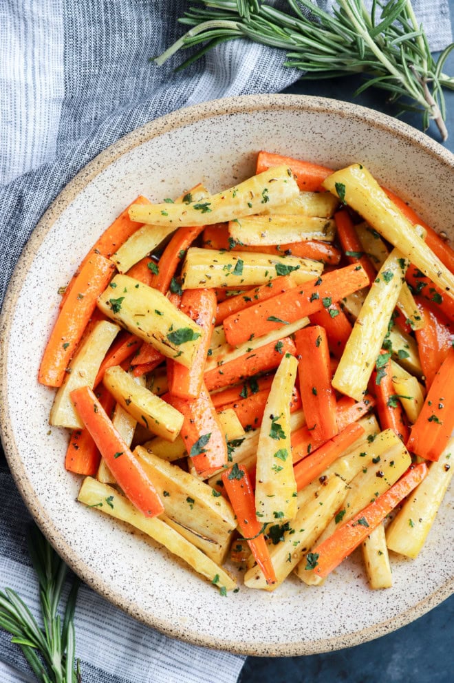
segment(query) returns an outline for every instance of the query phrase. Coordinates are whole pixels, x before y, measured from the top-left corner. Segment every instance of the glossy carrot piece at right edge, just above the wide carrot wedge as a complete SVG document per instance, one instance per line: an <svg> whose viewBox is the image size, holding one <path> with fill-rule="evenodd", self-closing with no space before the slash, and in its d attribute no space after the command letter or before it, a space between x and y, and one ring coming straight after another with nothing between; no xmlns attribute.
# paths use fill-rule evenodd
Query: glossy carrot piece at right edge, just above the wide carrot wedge
<svg viewBox="0 0 454 683"><path fill-rule="evenodd" d="M418 352L424 373L426 388L429 389L437 370L453 346L454 335L451 329L442 322L440 316L431 311L429 305L420 297L415 297L424 327L415 330Z"/></svg>

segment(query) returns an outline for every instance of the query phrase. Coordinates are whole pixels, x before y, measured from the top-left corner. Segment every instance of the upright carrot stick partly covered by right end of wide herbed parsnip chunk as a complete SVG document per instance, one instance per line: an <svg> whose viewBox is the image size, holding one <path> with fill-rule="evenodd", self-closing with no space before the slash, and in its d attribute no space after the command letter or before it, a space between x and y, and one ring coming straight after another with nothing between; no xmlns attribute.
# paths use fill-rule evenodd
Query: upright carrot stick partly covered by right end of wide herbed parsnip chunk
<svg viewBox="0 0 454 683"><path fill-rule="evenodd" d="M185 368L177 361L167 361L169 391L180 399L195 399L204 381L206 354L216 316L217 301L212 289L185 289L180 310L201 326L202 343L197 349L191 368Z"/></svg>

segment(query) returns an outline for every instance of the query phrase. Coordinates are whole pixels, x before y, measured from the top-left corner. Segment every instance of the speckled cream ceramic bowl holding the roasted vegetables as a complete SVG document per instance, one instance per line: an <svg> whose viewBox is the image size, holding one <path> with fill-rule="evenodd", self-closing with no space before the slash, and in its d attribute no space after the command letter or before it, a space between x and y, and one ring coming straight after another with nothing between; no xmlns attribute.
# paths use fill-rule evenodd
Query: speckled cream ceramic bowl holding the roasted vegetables
<svg viewBox="0 0 454 683"><path fill-rule="evenodd" d="M327 99L292 95L215 101L164 116L94 159L39 222L12 278L1 338L3 442L32 515L96 591L168 635L252 655L347 647L393 631L453 590L452 498L416 560L392 558L394 586L371 591L352 557L321 588L290 577L274 593L228 598L157 544L76 503L65 472L67 433L50 430L53 392L36 381L65 284L98 235L139 193L152 201L204 182L250 176L268 149L328 167L361 162L435 229L452 232L454 157L403 123Z"/></svg>

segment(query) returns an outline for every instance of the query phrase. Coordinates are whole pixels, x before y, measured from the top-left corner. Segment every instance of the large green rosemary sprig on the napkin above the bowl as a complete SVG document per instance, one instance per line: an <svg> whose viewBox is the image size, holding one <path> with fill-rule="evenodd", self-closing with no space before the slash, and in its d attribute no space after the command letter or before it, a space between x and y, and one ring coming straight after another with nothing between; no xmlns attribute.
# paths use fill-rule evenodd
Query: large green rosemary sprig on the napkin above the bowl
<svg viewBox="0 0 454 683"><path fill-rule="evenodd" d="M421 112L424 129L435 120L446 140L442 89L453 89L454 78L442 69L454 43L435 62L411 0L372 0L371 12L363 0L336 0L333 14L311 0L287 3L289 12L259 0L193 0L178 20L193 28L155 63L163 64L180 48L203 44L178 67L184 68L218 43L246 37L285 50L285 66L305 72L306 78L366 76L355 95L371 85L386 90L402 110Z"/></svg>

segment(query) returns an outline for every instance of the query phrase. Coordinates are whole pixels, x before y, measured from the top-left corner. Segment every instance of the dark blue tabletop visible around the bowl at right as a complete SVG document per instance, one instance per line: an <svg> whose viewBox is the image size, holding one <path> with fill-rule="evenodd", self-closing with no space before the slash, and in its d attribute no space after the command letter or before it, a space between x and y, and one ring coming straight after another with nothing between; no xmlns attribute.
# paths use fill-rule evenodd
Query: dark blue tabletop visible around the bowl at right
<svg viewBox="0 0 454 683"><path fill-rule="evenodd" d="M454 0L449 4L454 23ZM453 53L444 72L454 74ZM355 99L358 85L356 76L329 81L302 79L284 92L331 97L395 114L383 92L371 88ZM446 109L451 137L444 146L454 152L454 92L446 92ZM422 125L416 114L406 114L402 120L419 129ZM440 142L433 123L426 133ZM307 657L249 657L239 683L453 683L453 642L454 596L408 626L363 645Z"/></svg>

